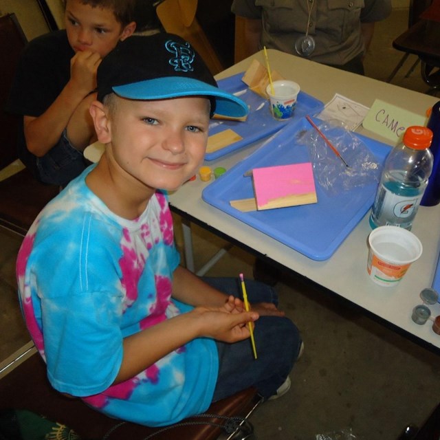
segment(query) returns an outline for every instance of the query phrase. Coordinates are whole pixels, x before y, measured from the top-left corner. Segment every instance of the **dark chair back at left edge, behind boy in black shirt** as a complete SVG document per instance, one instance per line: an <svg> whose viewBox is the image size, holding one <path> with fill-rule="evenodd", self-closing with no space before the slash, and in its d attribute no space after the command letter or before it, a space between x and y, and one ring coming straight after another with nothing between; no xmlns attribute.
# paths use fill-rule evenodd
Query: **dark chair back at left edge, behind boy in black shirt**
<svg viewBox="0 0 440 440"><path fill-rule="evenodd" d="M0 17L0 169L18 158L19 117L5 113L5 103L26 43L27 39L15 14Z"/></svg>

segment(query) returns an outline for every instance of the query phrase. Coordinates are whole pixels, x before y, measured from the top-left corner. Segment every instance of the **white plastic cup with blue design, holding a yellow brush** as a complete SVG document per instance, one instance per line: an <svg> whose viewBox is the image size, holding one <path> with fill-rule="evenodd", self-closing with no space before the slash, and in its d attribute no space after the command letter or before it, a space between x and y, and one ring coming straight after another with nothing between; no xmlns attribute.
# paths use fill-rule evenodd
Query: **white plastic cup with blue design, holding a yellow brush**
<svg viewBox="0 0 440 440"><path fill-rule="evenodd" d="M288 80L274 81L272 85L267 85L266 93L270 100L270 111L276 120L283 121L292 118L300 93L298 83Z"/></svg>

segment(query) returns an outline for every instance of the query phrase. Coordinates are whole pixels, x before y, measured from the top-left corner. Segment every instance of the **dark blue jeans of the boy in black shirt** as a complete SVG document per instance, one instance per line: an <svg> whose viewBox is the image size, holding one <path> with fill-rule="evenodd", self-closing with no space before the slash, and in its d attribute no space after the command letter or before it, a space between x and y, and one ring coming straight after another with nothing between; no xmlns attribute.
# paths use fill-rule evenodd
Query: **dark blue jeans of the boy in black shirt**
<svg viewBox="0 0 440 440"><path fill-rule="evenodd" d="M36 157L38 178L45 184L66 186L87 168L83 153L76 150L63 131L58 143L43 157Z"/></svg>

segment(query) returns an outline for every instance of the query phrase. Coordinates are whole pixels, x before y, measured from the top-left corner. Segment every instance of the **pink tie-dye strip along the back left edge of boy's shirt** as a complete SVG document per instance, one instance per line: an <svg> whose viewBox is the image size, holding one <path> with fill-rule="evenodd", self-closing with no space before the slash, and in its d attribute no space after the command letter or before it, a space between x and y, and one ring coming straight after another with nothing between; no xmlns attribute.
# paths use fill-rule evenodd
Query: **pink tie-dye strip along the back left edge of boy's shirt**
<svg viewBox="0 0 440 440"><path fill-rule="evenodd" d="M21 244L20 252L17 257L16 273L17 278L19 279L19 284L21 285L21 304L23 305L25 322L32 336L36 349L38 349L44 358L43 333L41 333L40 327L36 322L32 298L30 292L27 292L29 287L21 284L25 278L26 265L28 264L30 253L34 247L34 240L35 234L28 234L23 239L23 243Z"/></svg>

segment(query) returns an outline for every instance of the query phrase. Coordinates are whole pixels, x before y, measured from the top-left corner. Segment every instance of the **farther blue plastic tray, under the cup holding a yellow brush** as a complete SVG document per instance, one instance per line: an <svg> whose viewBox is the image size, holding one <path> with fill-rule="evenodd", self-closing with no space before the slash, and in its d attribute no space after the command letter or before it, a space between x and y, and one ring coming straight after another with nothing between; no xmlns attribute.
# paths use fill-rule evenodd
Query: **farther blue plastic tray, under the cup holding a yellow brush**
<svg viewBox="0 0 440 440"><path fill-rule="evenodd" d="M236 94L240 91L245 91L243 94L239 94L239 98L245 101L250 107L250 113L245 122L239 121L225 121L214 119L210 122L209 134L214 135L220 133L221 131L231 129L238 133L242 140L234 142L220 150L214 151L212 153L206 153L206 160L217 159L227 153L236 151L243 146L249 145L256 140L260 140L262 137L271 135L276 131L280 130L287 123L296 121L303 118L306 114L313 115L317 113L322 108L324 104L322 101L317 100L313 96L310 96L303 91L298 94L298 101L296 103L296 109L294 112L294 117L288 122L279 122L272 118L270 114L269 104L267 100L261 98L253 91L248 89L248 86L243 83L241 78L243 78L244 73L236 74L234 76L229 76L223 80L218 81L218 85L221 89L229 91L231 94Z"/></svg>

